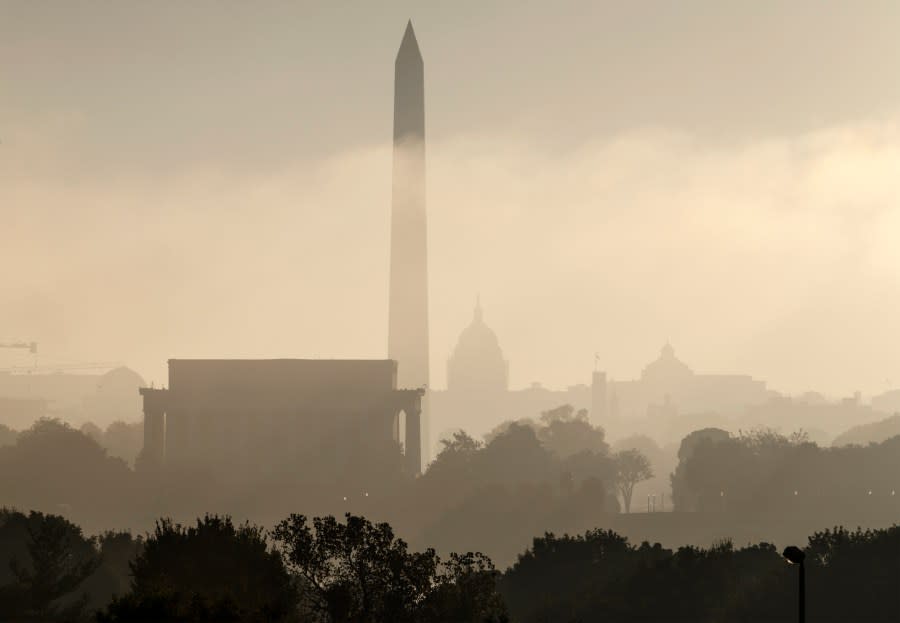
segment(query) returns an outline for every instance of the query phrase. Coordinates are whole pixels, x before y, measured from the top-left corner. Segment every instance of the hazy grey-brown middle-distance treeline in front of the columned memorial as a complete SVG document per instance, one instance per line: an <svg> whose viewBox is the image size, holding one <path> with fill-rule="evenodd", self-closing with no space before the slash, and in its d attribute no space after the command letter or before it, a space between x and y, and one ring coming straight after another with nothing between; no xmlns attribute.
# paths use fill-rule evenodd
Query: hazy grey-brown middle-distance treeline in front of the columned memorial
<svg viewBox="0 0 900 623"><path fill-rule="evenodd" d="M91 533L142 531L159 516L189 521L207 512L262 525L296 509L323 516L351 512L390 523L415 548L479 550L504 566L545 532L600 527L638 541L704 545L719 536L766 538L769 532L729 529L757 516L776 524L811 518L792 535L837 524L886 526L900 516L900 437L820 448L802 434L704 429L682 441L671 475L670 468L656 473L649 452L617 447L611 451L603 429L583 412L560 407L537 421L509 422L484 441L459 431L418 478L387 452L380 461L355 457L365 469L355 469L351 456L341 473L298 467L281 478L243 482L239 474L142 471L140 457L132 468L85 432L42 420L0 447L0 504L63 515ZM677 512L652 531L629 532L628 511L646 510L644 500L631 499L635 488L654 475L670 477L666 510L674 503ZM685 524L714 530L689 540L667 531ZM783 537L776 532L770 538Z"/></svg>

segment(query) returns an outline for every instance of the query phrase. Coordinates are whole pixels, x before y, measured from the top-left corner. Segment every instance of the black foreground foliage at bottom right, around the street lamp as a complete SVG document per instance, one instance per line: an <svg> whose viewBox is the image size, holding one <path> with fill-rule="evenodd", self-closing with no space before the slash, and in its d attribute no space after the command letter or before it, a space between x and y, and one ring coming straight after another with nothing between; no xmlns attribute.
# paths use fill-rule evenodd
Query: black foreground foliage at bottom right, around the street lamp
<svg viewBox="0 0 900 623"><path fill-rule="evenodd" d="M900 527L814 534L806 550L807 620L896 621ZM547 534L501 582L512 620L796 621L798 574L774 545L677 551L594 530Z"/></svg>

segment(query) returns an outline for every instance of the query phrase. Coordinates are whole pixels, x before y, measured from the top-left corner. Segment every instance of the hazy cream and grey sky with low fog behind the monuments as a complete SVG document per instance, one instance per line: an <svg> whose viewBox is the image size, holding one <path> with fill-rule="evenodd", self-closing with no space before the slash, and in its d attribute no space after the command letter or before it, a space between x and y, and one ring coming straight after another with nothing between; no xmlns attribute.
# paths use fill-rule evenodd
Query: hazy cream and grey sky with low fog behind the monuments
<svg viewBox="0 0 900 623"><path fill-rule="evenodd" d="M425 59L432 385L900 386L900 3L0 3L0 340L382 357L393 60ZM0 353L0 362L22 363Z"/></svg>

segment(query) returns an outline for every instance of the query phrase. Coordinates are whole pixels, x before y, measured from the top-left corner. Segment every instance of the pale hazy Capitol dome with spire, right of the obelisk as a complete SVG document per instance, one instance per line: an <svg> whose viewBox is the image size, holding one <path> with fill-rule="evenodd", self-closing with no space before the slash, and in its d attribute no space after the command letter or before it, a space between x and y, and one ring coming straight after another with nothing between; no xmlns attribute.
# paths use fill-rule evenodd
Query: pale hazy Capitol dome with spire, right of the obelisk
<svg viewBox="0 0 900 623"><path fill-rule="evenodd" d="M463 329L447 362L447 389L453 392L484 393L506 391L509 364L503 358L500 341L484 323L480 301L472 322Z"/></svg>

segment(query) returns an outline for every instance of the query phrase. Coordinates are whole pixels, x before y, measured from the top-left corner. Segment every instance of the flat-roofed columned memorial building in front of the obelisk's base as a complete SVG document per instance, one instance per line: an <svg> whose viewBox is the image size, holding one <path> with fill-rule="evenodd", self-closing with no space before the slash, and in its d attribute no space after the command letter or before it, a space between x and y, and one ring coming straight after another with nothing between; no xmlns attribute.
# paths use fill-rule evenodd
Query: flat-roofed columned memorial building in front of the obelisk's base
<svg viewBox="0 0 900 623"><path fill-rule="evenodd" d="M169 387L140 393L145 468L251 481L325 481L372 461L421 469L423 390L397 389L391 360L170 359Z"/></svg>

